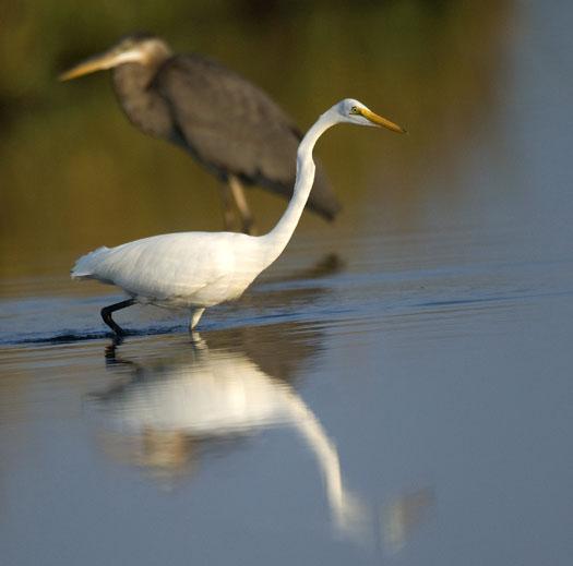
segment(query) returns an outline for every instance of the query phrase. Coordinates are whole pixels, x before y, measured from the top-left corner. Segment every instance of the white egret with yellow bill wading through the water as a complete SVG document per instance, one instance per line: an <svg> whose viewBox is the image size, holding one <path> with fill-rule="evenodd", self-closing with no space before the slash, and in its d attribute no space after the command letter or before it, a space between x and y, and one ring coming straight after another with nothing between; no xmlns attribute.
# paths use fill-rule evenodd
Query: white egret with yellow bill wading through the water
<svg viewBox="0 0 573 566"><path fill-rule="evenodd" d="M99 248L77 260L72 278L116 285L130 298L102 309L104 322L122 328L111 313L134 303L192 311L192 330L206 308L239 298L253 279L283 252L298 225L314 180L312 149L337 123L381 125L404 133L399 125L346 98L324 112L297 150L297 177L287 209L264 236L236 232L179 232L154 236L116 248Z"/></svg>

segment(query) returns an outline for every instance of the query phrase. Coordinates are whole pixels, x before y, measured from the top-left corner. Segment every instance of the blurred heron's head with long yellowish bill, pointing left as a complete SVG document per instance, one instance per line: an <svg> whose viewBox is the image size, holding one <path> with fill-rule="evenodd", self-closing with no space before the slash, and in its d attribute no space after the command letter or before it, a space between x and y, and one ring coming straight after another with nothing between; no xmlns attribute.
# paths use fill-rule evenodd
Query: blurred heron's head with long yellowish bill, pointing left
<svg viewBox="0 0 573 566"><path fill-rule="evenodd" d="M60 81L69 81L84 74L114 69L126 63L156 67L170 57L169 46L150 34L133 34L121 38L114 47L77 63L60 74Z"/></svg>

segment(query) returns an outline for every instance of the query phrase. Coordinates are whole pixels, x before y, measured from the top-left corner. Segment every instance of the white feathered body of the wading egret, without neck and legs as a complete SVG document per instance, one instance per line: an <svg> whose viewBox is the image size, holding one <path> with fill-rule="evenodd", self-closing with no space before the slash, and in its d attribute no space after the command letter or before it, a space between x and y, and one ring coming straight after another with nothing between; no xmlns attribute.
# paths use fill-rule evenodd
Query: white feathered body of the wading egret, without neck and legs
<svg viewBox="0 0 573 566"><path fill-rule="evenodd" d="M213 306L239 297L261 272L259 246L235 232L154 236L84 255L72 277L116 285L142 303Z"/></svg>

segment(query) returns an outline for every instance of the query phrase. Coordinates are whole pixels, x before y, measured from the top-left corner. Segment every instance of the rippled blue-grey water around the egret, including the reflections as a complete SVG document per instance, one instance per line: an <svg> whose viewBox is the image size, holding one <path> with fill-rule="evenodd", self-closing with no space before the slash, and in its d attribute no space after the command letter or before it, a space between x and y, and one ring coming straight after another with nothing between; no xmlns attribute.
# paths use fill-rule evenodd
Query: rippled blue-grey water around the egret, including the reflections
<svg viewBox="0 0 573 566"><path fill-rule="evenodd" d="M4 278L2 564L569 564L573 46L517 5L480 125L196 336L133 308L115 346L65 253Z"/></svg>

